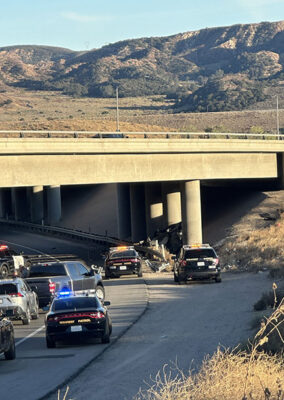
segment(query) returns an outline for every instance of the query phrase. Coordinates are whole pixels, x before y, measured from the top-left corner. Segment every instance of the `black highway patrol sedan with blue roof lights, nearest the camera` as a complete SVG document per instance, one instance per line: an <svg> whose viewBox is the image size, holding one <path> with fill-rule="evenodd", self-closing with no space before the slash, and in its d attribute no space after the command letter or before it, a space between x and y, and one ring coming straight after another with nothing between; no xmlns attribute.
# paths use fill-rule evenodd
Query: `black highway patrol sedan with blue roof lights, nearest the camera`
<svg viewBox="0 0 284 400"><path fill-rule="evenodd" d="M55 298L46 315L45 325L48 348L56 347L57 341L67 339L100 338L102 343L109 343L112 332L107 309L96 296Z"/></svg>

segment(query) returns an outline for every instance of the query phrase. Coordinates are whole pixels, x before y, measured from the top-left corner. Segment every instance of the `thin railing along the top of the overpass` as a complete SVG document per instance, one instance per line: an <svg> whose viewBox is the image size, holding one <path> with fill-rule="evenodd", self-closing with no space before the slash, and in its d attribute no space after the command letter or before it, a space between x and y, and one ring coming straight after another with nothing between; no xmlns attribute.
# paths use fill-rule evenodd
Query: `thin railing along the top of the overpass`
<svg viewBox="0 0 284 400"><path fill-rule="evenodd" d="M0 138L93 138L93 139L251 139L283 140L276 133L231 132L98 132L49 130L0 130Z"/></svg>

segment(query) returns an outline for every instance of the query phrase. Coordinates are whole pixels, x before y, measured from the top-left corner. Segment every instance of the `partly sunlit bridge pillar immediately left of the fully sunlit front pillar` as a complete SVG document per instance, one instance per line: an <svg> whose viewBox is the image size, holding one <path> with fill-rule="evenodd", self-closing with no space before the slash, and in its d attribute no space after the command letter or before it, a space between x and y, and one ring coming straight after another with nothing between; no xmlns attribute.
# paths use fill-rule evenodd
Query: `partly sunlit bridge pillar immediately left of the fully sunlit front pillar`
<svg viewBox="0 0 284 400"><path fill-rule="evenodd" d="M181 222L181 197L179 182L162 183L162 198L165 227Z"/></svg>

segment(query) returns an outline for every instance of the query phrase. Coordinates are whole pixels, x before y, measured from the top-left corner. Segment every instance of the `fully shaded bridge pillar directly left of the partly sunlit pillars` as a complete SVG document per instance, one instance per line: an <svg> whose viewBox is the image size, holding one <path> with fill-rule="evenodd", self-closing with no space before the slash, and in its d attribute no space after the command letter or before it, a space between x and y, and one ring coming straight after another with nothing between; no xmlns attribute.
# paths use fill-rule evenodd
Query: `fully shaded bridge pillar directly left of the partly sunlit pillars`
<svg viewBox="0 0 284 400"><path fill-rule="evenodd" d="M145 191L143 183L130 185L131 239L146 239Z"/></svg>

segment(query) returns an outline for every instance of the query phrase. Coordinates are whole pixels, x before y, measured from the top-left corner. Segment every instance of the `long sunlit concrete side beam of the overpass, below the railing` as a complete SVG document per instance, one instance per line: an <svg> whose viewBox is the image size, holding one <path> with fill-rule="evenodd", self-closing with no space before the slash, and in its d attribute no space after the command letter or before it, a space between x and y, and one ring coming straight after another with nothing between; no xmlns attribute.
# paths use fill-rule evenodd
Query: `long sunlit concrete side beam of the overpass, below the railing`
<svg viewBox="0 0 284 400"><path fill-rule="evenodd" d="M277 178L276 154L2 156L1 187Z"/></svg>

